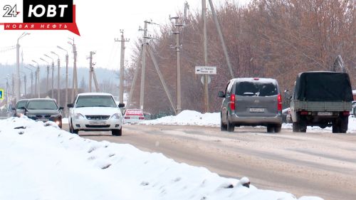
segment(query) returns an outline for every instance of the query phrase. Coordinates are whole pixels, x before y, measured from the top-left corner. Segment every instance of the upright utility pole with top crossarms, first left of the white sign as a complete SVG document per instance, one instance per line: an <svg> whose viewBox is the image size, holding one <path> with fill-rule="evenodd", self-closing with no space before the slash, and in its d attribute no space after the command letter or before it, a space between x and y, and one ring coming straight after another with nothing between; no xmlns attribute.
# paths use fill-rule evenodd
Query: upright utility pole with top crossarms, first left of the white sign
<svg viewBox="0 0 356 200"><path fill-rule="evenodd" d="M176 49L176 55L177 55L177 114L179 114L182 111L182 97L181 97L181 78L180 78L180 45L179 45L179 27L183 26L182 24L178 23L179 16L171 17L170 18L175 19L174 26L176 27L176 30L174 34L176 35L176 45L174 48Z"/></svg>

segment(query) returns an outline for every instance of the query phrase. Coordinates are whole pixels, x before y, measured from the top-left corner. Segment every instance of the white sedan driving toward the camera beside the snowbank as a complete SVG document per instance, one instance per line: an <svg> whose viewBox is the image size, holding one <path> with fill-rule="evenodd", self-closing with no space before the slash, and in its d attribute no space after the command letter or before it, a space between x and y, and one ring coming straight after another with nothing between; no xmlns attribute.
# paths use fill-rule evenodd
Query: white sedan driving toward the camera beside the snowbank
<svg viewBox="0 0 356 200"><path fill-rule="evenodd" d="M122 135L122 114L113 96L108 93L80 93L70 107L69 131L111 131L112 135Z"/></svg>

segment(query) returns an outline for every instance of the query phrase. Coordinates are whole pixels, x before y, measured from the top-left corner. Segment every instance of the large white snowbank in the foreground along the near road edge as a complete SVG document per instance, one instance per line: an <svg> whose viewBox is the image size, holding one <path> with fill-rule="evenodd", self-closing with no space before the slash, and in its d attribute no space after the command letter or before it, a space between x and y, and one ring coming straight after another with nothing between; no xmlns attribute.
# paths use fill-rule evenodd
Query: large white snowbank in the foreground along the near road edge
<svg viewBox="0 0 356 200"><path fill-rule="evenodd" d="M53 122L26 118L0 120L0 157L0 199L6 200L295 200L283 191L242 186L246 177L219 177L163 154L83 139Z"/></svg>

